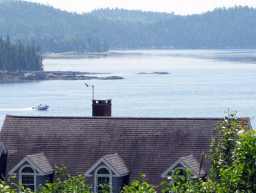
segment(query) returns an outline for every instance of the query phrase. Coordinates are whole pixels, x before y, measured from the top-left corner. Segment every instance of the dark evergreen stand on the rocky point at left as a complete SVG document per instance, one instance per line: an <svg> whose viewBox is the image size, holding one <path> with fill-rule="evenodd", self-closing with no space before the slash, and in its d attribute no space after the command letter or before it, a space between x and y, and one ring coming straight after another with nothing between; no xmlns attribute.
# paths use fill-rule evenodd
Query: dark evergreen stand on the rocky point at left
<svg viewBox="0 0 256 193"><path fill-rule="evenodd" d="M10 37L0 37L0 72L27 72L43 70L41 50L35 45L12 45Z"/></svg>

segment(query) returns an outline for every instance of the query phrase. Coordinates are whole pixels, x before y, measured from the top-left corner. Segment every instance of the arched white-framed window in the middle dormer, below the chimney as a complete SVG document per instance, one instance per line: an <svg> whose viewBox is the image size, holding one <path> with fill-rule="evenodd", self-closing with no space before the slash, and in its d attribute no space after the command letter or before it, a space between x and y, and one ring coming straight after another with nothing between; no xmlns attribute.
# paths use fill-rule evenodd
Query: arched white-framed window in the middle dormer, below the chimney
<svg viewBox="0 0 256 193"><path fill-rule="evenodd" d="M102 190L102 187L100 185L103 184L112 184L112 175L109 171L109 168L101 166L98 167L97 170L95 170L95 177L96 177L96 184L97 184L97 190L96 192L100 193Z"/></svg>

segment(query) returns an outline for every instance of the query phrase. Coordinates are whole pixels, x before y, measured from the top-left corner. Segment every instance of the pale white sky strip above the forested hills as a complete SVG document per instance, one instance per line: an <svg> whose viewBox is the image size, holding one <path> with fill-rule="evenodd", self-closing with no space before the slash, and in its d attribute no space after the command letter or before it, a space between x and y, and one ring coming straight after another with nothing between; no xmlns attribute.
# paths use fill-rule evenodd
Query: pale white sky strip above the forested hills
<svg viewBox="0 0 256 193"><path fill-rule="evenodd" d="M68 12L91 12L99 8L123 8L174 14L197 14L235 5L256 8L256 0L26 0L48 4Z"/></svg>

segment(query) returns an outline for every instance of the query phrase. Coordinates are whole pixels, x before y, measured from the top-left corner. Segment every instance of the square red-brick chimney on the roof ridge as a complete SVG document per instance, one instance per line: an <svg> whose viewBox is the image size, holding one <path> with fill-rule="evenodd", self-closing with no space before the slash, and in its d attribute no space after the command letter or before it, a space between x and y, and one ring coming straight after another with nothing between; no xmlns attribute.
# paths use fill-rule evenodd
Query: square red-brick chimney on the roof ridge
<svg viewBox="0 0 256 193"><path fill-rule="evenodd" d="M111 116L111 99L93 99L93 116Z"/></svg>

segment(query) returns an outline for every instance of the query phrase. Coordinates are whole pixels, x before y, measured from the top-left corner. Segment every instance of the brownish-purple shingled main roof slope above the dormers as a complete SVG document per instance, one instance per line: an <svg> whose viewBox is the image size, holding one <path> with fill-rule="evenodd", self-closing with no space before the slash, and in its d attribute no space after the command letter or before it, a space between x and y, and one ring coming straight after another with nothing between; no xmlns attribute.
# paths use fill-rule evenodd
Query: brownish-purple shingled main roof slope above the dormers
<svg viewBox="0 0 256 193"><path fill-rule="evenodd" d="M8 115L0 141L8 150L7 172L24 156L44 152L51 165L64 164L75 175L102 156L118 153L129 168L130 181L145 173L149 183L157 185L177 159L193 154L200 160L201 153L209 151L219 121L223 119ZM210 161L205 159L203 168L208 172Z"/></svg>

